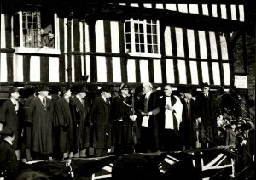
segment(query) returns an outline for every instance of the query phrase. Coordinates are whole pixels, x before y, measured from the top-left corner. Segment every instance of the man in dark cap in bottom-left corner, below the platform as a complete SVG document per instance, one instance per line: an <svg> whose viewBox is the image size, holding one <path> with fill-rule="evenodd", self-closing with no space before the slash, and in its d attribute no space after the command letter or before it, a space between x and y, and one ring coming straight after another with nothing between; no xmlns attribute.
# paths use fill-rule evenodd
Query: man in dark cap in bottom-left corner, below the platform
<svg viewBox="0 0 256 180"><path fill-rule="evenodd" d="M4 127L0 131L0 178L6 180L15 179L18 167L13 142L15 140L15 132L8 127Z"/></svg>

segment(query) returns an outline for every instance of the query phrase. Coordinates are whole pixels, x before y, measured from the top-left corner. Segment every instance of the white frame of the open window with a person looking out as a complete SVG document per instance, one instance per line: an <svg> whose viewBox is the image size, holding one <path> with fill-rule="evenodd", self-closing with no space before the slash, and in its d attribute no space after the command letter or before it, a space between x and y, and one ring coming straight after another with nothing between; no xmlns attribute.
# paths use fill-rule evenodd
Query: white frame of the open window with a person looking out
<svg viewBox="0 0 256 180"><path fill-rule="evenodd" d="M38 10L41 12L41 10ZM15 46L14 44L14 36L15 32L12 32L12 47L15 49L15 53L36 53L36 54L54 54L54 55L60 55L60 37L59 37L59 19L57 17L57 14L54 13L54 30L55 30L55 48L41 48L41 47L25 47L24 46L24 38L23 38L23 26L22 26L22 13L25 11L19 11L15 14L19 14L19 37L20 37L20 46ZM14 27L14 16L12 16L12 27Z"/></svg>

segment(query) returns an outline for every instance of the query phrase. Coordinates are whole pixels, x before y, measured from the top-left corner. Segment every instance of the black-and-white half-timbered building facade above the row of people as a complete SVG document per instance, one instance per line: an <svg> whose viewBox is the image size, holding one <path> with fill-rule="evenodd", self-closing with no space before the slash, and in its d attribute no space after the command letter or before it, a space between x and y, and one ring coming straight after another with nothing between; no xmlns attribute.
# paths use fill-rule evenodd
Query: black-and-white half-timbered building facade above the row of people
<svg viewBox="0 0 256 180"><path fill-rule="evenodd" d="M213 89L229 89L236 75L235 42L247 29L247 6L239 2L2 1L1 6L2 96L11 85L55 86L86 75L89 85L208 82ZM54 48L42 46L48 31L54 31Z"/></svg>

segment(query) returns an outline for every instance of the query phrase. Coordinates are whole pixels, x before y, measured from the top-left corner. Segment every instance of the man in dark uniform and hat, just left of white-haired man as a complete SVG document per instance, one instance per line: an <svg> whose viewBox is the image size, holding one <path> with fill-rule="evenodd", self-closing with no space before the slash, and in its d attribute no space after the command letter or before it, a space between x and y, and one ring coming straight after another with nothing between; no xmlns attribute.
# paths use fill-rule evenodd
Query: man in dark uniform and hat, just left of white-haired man
<svg viewBox="0 0 256 180"><path fill-rule="evenodd" d="M111 107L112 118L114 122L114 150L115 153L132 153L134 151L134 121L137 116L131 110L132 97L129 94L127 84L122 83L120 86L120 95L113 99ZM132 132L134 131L134 132Z"/></svg>

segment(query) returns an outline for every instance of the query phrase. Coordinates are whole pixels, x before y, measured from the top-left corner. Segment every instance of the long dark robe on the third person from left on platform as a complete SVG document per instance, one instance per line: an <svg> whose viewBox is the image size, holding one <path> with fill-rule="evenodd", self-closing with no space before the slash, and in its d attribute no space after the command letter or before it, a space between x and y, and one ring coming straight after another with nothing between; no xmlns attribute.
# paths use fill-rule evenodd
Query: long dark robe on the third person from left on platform
<svg viewBox="0 0 256 180"><path fill-rule="evenodd" d="M54 106L54 126L57 129L55 144L58 152L73 151L73 125L69 103L65 98L58 98Z"/></svg>

